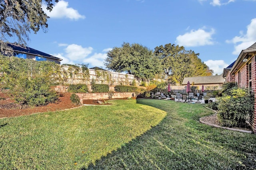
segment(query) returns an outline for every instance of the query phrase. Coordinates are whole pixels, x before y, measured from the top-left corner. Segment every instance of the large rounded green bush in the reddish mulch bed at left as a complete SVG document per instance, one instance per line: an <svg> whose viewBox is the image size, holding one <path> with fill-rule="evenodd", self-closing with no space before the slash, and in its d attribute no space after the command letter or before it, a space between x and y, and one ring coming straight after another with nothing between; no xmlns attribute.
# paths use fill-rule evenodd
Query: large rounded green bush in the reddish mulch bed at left
<svg viewBox="0 0 256 170"><path fill-rule="evenodd" d="M58 100L58 95L45 78L20 78L11 93L18 104L30 106L44 106Z"/></svg>

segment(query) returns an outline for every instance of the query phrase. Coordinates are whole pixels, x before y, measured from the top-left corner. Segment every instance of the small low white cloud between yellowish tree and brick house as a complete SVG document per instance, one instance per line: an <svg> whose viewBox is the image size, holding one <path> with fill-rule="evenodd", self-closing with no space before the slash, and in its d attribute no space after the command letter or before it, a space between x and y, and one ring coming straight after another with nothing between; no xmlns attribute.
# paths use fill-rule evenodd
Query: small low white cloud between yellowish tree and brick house
<svg viewBox="0 0 256 170"><path fill-rule="evenodd" d="M215 74L222 74L223 69L229 66L229 64L226 64L223 60L208 60L204 61L204 63L214 71L213 75Z"/></svg>

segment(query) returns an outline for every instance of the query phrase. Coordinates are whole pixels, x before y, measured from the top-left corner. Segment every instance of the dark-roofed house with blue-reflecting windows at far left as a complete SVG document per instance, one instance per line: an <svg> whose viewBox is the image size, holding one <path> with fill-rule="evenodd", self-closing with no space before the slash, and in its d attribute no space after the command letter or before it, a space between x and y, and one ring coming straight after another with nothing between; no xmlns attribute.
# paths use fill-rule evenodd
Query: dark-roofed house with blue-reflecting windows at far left
<svg viewBox="0 0 256 170"><path fill-rule="evenodd" d="M54 57L30 47L26 47L25 45L20 45L18 43L7 43L7 45L8 47L12 48L13 56L15 57L22 59L33 59L36 61L53 61L57 64L60 64L60 61L62 61L62 59L58 57ZM6 54L4 53L3 55Z"/></svg>

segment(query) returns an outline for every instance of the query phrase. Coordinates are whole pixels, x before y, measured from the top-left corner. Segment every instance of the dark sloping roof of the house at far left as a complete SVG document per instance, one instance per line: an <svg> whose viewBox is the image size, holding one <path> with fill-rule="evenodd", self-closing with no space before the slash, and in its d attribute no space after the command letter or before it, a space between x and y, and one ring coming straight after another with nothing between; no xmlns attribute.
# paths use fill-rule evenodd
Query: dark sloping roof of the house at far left
<svg viewBox="0 0 256 170"><path fill-rule="evenodd" d="M20 44L16 44L16 43L7 43L7 45L9 47L11 47L14 52L26 53L26 54L31 54L31 55L36 55L36 56L40 56L40 57L46 57L46 58L51 58L51 59L56 59L58 61L62 61L62 59L60 59L58 57L54 57L53 55L46 54L44 52L38 51L36 49L32 49L25 45L20 45Z"/></svg>

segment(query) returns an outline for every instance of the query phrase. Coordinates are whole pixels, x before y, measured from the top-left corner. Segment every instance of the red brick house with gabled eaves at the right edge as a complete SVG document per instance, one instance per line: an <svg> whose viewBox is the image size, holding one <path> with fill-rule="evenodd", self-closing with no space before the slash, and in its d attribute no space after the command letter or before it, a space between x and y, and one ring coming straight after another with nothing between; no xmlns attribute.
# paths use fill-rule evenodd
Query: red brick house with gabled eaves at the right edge
<svg viewBox="0 0 256 170"><path fill-rule="evenodd" d="M237 82L240 88L252 88L254 98L256 97L256 43L241 51L236 61L230 67L224 68L223 78L226 82ZM250 125L256 132L256 103L254 115Z"/></svg>

